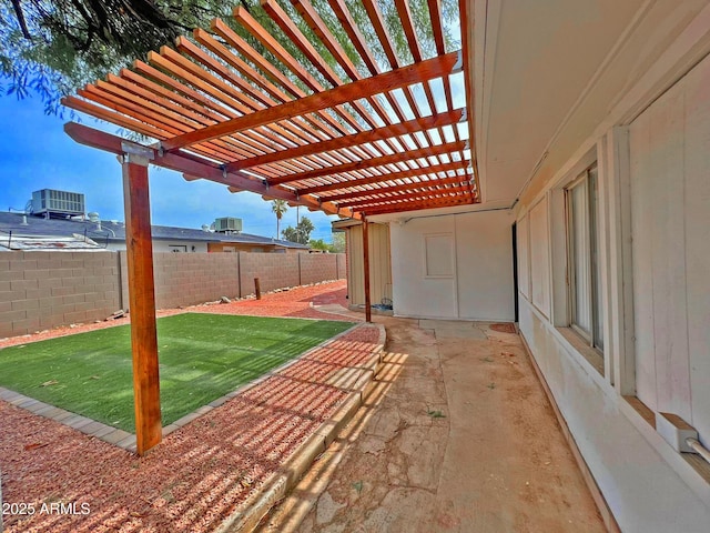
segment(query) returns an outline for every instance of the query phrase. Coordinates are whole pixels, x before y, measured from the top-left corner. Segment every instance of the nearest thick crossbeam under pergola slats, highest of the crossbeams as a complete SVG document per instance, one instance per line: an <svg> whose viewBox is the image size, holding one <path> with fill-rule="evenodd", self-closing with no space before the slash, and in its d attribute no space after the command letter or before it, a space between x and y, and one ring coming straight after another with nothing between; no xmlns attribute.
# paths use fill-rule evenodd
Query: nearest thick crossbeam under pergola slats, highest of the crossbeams
<svg viewBox="0 0 710 533"><path fill-rule="evenodd" d="M460 52L452 52L446 56L422 61L420 63L390 70L384 74L373 78L354 81L346 86L311 94L300 100L293 100L280 105L255 111L250 114L237 117L219 124L210 125L182 135L173 137L161 141L161 148L165 151L176 150L200 142L210 141L220 137L231 135L244 130L258 128L282 120L300 117L302 114L334 108L336 105L349 103L354 100L372 97L378 93L393 91L413 83L420 83L443 78L457 71L460 63Z"/></svg>

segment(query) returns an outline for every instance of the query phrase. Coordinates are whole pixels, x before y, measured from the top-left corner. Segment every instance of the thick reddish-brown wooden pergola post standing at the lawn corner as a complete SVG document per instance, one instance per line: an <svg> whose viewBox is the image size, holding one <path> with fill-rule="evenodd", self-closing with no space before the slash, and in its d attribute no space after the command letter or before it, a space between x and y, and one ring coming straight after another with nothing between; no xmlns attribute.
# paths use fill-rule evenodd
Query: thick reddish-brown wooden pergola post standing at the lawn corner
<svg viewBox="0 0 710 533"><path fill-rule="evenodd" d="M133 398L136 451L143 455L162 440L158 334L155 330L155 289L153 284L153 243L148 184L148 164L152 152L123 144L123 199L125 205L125 247L133 353Z"/></svg>

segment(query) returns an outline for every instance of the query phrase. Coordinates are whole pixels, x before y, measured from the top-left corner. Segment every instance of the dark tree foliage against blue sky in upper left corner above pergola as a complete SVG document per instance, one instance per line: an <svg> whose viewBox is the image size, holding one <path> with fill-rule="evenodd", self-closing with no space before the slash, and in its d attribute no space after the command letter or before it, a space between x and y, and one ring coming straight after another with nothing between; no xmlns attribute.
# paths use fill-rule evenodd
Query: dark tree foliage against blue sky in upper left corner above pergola
<svg viewBox="0 0 710 533"><path fill-rule="evenodd" d="M61 95L227 13L216 0L0 0L0 69L9 93L55 112Z"/></svg>

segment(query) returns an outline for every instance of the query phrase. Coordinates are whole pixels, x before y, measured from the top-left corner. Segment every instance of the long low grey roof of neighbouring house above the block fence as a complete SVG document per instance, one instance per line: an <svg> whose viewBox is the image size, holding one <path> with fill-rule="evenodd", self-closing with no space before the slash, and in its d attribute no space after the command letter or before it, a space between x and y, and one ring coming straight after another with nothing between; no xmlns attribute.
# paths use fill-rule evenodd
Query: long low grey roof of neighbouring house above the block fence
<svg viewBox="0 0 710 533"><path fill-rule="evenodd" d="M122 222L102 220L100 223L89 220L44 219L27 215L23 224L22 213L0 212L0 247L6 242L7 234L12 232L12 241L20 238L72 238L77 235L79 242L83 238L95 241L101 245L108 242L125 241L125 224ZM233 242L242 244L263 244L281 248L297 248L307 250L308 247L296 242L252 235L248 233L213 233L190 228L174 228L171 225L153 225L153 240L160 241L196 241L196 242ZM6 247L7 248L7 247ZM85 247L74 247L85 248Z"/></svg>

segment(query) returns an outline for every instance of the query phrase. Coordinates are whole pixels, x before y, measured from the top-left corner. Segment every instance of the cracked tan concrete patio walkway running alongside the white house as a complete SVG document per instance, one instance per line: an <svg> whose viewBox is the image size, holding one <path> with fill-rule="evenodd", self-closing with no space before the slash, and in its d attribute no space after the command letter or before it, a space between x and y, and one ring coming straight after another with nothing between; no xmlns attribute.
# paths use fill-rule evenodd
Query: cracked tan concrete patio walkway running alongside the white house
<svg viewBox="0 0 710 533"><path fill-rule="evenodd" d="M377 386L260 531L605 531L517 334L376 321Z"/></svg>

